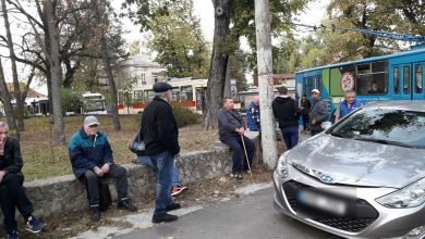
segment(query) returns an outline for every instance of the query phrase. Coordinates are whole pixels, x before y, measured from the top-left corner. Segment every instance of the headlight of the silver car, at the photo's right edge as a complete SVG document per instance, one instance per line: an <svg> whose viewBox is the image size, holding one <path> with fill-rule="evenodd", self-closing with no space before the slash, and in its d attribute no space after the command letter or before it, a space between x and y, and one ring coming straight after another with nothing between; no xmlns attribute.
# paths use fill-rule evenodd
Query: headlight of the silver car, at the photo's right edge
<svg viewBox="0 0 425 239"><path fill-rule="evenodd" d="M425 201L425 178L422 178L405 188L378 198L376 201L379 204L391 209L418 206Z"/></svg>

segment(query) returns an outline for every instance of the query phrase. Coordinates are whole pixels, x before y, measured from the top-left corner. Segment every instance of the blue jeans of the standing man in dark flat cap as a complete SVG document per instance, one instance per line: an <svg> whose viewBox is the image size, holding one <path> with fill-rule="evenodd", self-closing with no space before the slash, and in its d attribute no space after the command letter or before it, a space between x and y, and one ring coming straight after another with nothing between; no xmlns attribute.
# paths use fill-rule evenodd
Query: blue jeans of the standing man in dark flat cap
<svg viewBox="0 0 425 239"><path fill-rule="evenodd" d="M166 213L166 207L171 203L171 174L174 165L174 155L166 151L151 156L153 164L158 173L157 198L155 200L154 215Z"/></svg>

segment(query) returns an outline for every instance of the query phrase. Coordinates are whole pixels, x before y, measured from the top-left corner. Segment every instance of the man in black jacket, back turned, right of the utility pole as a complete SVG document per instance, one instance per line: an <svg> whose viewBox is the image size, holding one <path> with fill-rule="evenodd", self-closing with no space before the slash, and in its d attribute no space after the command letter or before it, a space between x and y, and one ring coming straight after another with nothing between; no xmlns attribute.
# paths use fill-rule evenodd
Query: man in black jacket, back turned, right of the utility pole
<svg viewBox="0 0 425 239"><path fill-rule="evenodd" d="M279 87L279 97L277 97L271 108L275 118L279 122L279 128L287 149L290 150L299 143L299 118L300 110L295 100L288 96L287 87Z"/></svg>

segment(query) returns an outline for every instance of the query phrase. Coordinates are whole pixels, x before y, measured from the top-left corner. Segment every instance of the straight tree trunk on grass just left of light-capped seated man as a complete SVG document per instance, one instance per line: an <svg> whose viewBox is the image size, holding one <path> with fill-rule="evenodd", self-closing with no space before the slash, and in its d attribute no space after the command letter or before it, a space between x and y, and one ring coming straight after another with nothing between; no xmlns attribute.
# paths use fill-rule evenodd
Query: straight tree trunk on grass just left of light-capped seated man
<svg viewBox="0 0 425 239"><path fill-rule="evenodd" d="M51 97L52 97L52 123L53 125L53 140L56 143L65 143L64 124L61 104L61 65L59 61L59 29L57 27L57 20L54 18L53 3L45 1L46 17L48 21L49 40L50 40L50 73L51 73ZM56 7L54 7L56 8Z"/></svg>

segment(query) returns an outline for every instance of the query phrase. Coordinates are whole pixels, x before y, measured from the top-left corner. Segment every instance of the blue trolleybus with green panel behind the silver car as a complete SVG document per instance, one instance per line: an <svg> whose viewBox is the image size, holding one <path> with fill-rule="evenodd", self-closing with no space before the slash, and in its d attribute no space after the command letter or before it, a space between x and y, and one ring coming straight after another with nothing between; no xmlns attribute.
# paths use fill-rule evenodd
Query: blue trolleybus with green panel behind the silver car
<svg viewBox="0 0 425 239"><path fill-rule="evenodd" d="M317 88L333 112L345 90L362 104L384 100L424 100L425 48L305 70L296 73L296 98Z"/></svg>

